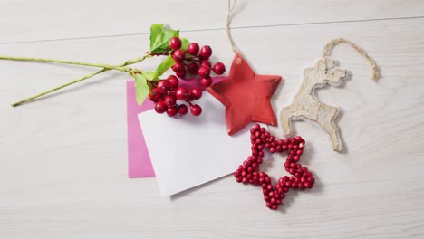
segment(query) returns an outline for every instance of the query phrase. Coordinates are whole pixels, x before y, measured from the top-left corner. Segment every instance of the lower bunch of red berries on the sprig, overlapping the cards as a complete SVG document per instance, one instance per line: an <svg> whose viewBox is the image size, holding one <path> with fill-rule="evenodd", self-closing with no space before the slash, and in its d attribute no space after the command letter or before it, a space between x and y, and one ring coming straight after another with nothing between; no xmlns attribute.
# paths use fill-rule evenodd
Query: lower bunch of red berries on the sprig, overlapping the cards
<svg viewBox="0 0 424 239"><path fill-rule="evenodd" d="M202 90L198 88L188 90L179 86L178 78L175 75L170 75L167 80L150 82L153 84L153 88L149 92L149 100L155 102L155 110L159 114L167 112L169 117L187 114L187 105L183 103L178 105L177 100L186 101L192 115L198 116L202 113L199 105L191 103L202 97Z"/></svg>

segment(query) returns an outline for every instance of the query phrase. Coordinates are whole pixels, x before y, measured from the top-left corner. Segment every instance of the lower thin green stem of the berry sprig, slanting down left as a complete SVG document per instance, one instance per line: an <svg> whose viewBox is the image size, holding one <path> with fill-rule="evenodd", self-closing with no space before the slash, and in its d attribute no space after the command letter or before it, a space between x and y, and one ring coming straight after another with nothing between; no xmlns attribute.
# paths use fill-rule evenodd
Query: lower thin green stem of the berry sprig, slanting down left
<svg viewBox="0 0 424 239"><path fill-rule="evenodd" d="M116 67L124 67L124 66L130 65L130 64L135 64L135 63L137 63L137 62L142 62L142 61L144 61L144 60L145 60L145 59L146 59L149 55L150 55L150 53L148 53L148 54L146 54L146 55L144 55L144 56L142 56L142 57L138 57L138 58L131 59L131 60L127 61L127 62L123 62L123 63L121 63L120 65L118 65L118 66L116 66ZM5 58L0 58L0 59L4 59L4 60L13 60L13 59L5 59ZM31 61L33 61L33 62L34 62L34 61L36 61L36 60L34 60L34 59L36 59L36 58L32 58L32 59L33 59L33 60L31 60ZM51 60L51 59L44 59L44 60ZM16 60L16 61L28 61L28 60ZM49 61L42 61L42 62L49 62ZM65 63L65 62L61 62L61 63ZM128 69L130 69L130 68L128 68ZM19 101L17 101L17 102L14 102L14 103L12 104L12 107L16 107L16 106L19 106L19 105L21 105L21 104L24 104L24 103L26 103L26 102L28 102L28 101L35 100L35 99L37 99L37 98L42 97L43 95L49 94L49 93L51 93L51 92L53 92L53 91L61 90L61 89L63 89L64 87L70 86L70 85L72 85L72 84L74 84L74 83L77 83L77 82L80 82L80 81L87 80L87 79L92 78L93 76L95 76L95 75L97 75L97 74L100 74L100 73L102 73L102 72L107 72L107 71L110 71L110 70L111 70L111 69L104 67L103 69L101 69L101 70L100 70L100 71L98 71L98 72L93 72L93 73L91 73L91 74L88 74L88 75L86 75L86 76L83 76L82 78L76 79L76 80L74 80L74 81L67 82L67 83L65 83L65 84L63 84L63 85L60 85L60 86L58 86L58 87L55 87L55 88L53 88L53 89L51 89L51 90L43 91L43 92L41 92L41 93L39 93L39 94L36 94L36 95L34 95L34 96L31 96L31 97L25 98L24 100L19 100Z"/></svg>

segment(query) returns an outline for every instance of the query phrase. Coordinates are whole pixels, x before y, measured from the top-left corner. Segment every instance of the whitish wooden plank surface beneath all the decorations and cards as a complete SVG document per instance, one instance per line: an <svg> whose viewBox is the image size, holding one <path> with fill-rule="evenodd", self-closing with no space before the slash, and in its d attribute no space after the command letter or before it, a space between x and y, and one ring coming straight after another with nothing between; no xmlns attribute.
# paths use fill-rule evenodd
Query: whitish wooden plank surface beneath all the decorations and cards
<svg viewBox="0 0 424 239"><path fill-rule="evenodd" d="M168 22L227 65L233 56L226 1L3 0L0 18L0 54L120 63L148 50L150 24ZM361 45L381 68L375 83L358 53L334 50L351 77L318 95L341 107L347 149L335 153L321 129L295 124L313 190L291 192L276 212L234 177L160 197L155 178L127 177L127 75L106 72L13 109L96 69L0 62L0 238L424 238L424 1L239 0L233 26L255 71L283 76L278 113L333 38ZM281 175L283 159L266 168Z"/></svg>

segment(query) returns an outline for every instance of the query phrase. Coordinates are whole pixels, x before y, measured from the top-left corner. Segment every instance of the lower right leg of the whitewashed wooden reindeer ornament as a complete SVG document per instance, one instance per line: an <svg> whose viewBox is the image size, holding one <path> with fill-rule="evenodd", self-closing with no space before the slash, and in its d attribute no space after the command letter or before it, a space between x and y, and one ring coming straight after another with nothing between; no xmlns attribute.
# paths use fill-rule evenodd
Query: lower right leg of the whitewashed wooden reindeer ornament
<svg viewBox="0 0 424 239"><path fill-rule="evenodd" d="M337 108L321 103L317 120L320 126L330 136L330 139L332 141L332 149L334 151L340 151L342 149L337 126L335 126L332 122L332 119L334 119L334 117L337 115L337 112Z"/></svg>

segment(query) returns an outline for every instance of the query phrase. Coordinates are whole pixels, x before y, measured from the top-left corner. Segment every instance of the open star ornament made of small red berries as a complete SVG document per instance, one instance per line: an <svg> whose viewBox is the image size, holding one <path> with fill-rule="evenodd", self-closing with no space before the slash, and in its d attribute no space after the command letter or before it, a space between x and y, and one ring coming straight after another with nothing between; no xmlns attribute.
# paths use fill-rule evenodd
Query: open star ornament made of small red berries
<svg viewBox="0 0 424 239"><path fill-rule="evenodd" d="M250 129L252 142L252 156L249 156L243 165L239 166L234 176L237 182L262 186L266 206L276 210L283 201L285 194L293 189L312 188L315 182L313 174L307 167L297 163L304 150L304 139L300 136L276 140L265 128L256 124ZM284 176L278 179L276 186L271 183L271 177L265 172L259 171L259 165L263 161L264 148L271 153L288 151L289 155L285 161L285 171L292 176Z"/></svg>

